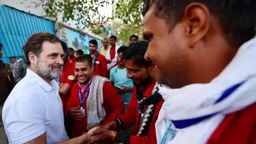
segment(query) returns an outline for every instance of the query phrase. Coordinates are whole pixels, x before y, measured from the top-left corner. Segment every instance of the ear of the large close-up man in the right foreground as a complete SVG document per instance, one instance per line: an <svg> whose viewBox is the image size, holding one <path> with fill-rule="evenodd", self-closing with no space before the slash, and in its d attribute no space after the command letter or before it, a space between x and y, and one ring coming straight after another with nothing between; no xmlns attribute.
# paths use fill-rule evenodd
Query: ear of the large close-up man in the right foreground
<svg viewBox="0 0 256 144"><path fill-rule="evenodd" d="M182 23L186 26L189 47L194 47L207 34L210 16L210 12L204 4L191 3L186 7Z"/></svg>

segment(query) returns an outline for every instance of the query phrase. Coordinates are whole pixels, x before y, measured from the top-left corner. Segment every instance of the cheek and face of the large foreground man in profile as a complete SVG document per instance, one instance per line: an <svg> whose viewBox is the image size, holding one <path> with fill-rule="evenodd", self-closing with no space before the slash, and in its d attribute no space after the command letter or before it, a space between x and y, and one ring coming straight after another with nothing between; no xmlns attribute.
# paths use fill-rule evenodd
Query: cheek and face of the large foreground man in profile
<svg viewBox="0 0 256 144"><path fill-rule="evenodd" d="M178 24L169 32L165 20L157 18L152 9L145 15L144 22L144 35L151 39L146 56L157 65L157 80L172 88L180 86L188 72L188 43L183 29Z"/></svg>

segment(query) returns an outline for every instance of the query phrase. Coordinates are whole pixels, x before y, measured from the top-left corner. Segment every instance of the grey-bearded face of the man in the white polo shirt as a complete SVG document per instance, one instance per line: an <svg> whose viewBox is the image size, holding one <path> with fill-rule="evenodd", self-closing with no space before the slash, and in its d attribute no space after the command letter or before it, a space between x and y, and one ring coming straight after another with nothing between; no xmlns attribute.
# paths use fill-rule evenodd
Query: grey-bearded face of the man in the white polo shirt
<svg viewBox="0 0 256 144"><path fill-rule="evenodd" d="M45 78L52 80L54 77L60 77L61 67L63 66L63 57L65 56L59 42L44 42L42 52L36 56L29 52L29 61L31 67L35 68L36 73Z"/></svg>

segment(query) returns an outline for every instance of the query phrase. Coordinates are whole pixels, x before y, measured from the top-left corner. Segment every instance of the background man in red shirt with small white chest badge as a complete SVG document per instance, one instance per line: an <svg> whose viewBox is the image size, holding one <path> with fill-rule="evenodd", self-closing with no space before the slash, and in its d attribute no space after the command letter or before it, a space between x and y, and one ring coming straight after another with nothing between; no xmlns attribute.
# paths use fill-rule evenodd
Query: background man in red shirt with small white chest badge
<svg viewBox="0 0 256 144"><path fill-rule="evenodd" d="M94 67L94 72L96 75L102 77L108 77L107 70L107 60L106 58L100 54L98 51L98 42L97 40L90 40L89 42L89 50L90 55L92 56L92 66Z"/></svg>

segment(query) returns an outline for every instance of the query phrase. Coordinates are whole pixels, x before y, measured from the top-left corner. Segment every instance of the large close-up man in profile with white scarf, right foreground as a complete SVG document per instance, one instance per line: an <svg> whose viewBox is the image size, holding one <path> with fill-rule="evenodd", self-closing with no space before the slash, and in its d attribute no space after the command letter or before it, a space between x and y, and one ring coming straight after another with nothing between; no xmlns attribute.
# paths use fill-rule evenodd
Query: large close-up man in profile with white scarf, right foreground
<svg viewBox="0 0 256 144"><path fill-rule="evenodd" d="M256 1L145 2L158 143L256 143Z"/></svg>

